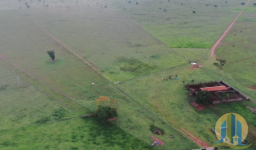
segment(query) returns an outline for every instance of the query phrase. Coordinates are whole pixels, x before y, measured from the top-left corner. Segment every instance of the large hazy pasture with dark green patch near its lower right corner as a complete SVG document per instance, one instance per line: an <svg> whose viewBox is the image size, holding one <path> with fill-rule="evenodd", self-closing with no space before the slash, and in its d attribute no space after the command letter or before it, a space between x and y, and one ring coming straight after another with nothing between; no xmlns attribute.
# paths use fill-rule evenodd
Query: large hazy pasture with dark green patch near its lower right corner
<svg viewBox="0 0 256 150"><path fill-rule="evenodd" d="M122 16L110 6L110 2L106 2L108 5L104 9L93 1L77 6L63 3L66 3L65 7L53 4L48 9L33 3L29 10L20 9L18 17L26 16L28 23L35 23L68 45L95 64L111 82L126 81L187 62L179 53ZM66 15L62 16L63 13ZM141 73L122 71L121 67L125 64L120 64L118 60L124 57L139 59L146 66L154 66L154 69L139 69Z"/></svg>

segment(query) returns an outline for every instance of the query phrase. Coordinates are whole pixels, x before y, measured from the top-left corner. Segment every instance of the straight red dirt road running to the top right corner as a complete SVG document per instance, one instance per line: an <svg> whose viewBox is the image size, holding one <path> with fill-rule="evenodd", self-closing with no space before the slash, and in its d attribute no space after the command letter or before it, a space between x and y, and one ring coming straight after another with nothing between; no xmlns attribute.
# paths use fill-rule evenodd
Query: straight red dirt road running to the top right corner
<svg viewBox="0 0 256 150"><path fill-rule="evenodd" d="M250 2L250 0L245 4L245 7L247 7L247 4ZM237 17L235 17L234 21L228 26L228 28L226 29L226 31L222 34L222 36L218 39L218 41L213 45L213 47L211 48L211 58L214 57L214 53L216 51L216 48L219 46L219 43L224 39L224 37L228 34L228 32L230 31L230 29L233 27L233 25L235 24L235 22L237 21L238 17L240 16L240 14L242 14L242 12L244 11L244 8L242 9L242 11L240 11L240 13L238 14Z"/></svg>

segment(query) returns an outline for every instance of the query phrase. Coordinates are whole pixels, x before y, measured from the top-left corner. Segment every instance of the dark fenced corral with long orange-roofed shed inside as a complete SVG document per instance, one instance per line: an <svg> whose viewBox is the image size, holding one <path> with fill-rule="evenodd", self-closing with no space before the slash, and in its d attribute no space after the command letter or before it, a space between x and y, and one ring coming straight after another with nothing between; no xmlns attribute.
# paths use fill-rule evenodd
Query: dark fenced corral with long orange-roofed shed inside
<svg viewBox="0 0 256 150"><path fill-rule="evenodd" d="M211 81L201 83L185 84L190 90L190 96L196 95L199 91L209 91L213 104L245 101L250 98L234 87L223 81Z"/></svg>

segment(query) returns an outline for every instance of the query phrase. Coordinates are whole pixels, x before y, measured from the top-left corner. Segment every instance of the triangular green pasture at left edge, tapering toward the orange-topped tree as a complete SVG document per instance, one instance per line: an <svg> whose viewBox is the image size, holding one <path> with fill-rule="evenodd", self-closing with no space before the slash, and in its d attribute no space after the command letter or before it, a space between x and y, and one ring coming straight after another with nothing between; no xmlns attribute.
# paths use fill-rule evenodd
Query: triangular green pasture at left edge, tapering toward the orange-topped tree
<svg viewBox="0 0 256 150"><path fill-rule="evenodd" d="M61 119L89 113L86 109L79 113L63 108L62 104L21 78L18 77L17 81L17 76L7 68L0 66L0 70L0 130L41 124L43 118L46 122L56 121L60 118L56 118L53 112L58 109L62 109Z"/></svg>

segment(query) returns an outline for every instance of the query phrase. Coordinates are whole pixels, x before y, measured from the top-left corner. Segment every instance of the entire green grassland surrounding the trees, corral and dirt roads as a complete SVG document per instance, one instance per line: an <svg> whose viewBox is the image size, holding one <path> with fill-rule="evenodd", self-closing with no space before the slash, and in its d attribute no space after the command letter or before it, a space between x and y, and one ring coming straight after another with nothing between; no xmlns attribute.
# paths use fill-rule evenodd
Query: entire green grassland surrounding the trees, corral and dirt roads
<svg viewBox="0 0 256 150"><path fill-rule="evenodd" d="M212 145L211 128L229 112L246 119L255 148L255 114L247 108L255 104L198 111L183 83L222 79L256 101L249 89L256 87L254 1L218 48L216 58L227 60L222 76L209 48L247 1L0 2L0 83L8 83L0 89L0 149L150 149L154 126L165 132L155 149L199 148L181 128ZM51 49L56 62L46 54ZM175 74L179 80L161 80ZM76 118L94 112L100 96L117 99L116 121ZM65 117L56 119L56 110ZM50 119L39 126L43 116Z"/></svg>

